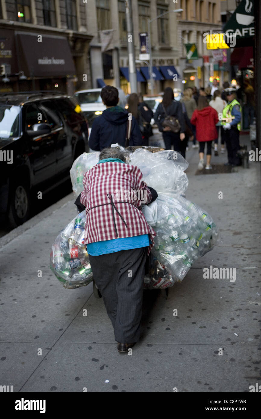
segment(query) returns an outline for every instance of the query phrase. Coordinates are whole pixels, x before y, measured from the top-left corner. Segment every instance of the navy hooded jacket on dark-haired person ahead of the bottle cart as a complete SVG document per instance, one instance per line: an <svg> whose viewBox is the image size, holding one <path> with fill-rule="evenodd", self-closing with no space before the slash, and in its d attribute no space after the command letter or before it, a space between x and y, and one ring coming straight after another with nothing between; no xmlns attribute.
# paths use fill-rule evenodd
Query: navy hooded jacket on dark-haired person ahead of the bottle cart
<svg viewBox="0 0 261 419"><path fill-rule="evenodd" d="M103 150L111 144L118 142L123 147L127 135L128 112L120 106L108 108L101 116L93 121L89 137L89 146L92 150ZM129 145L142 145L142 135L136 119L132 116L132 129Z"/></svg>

